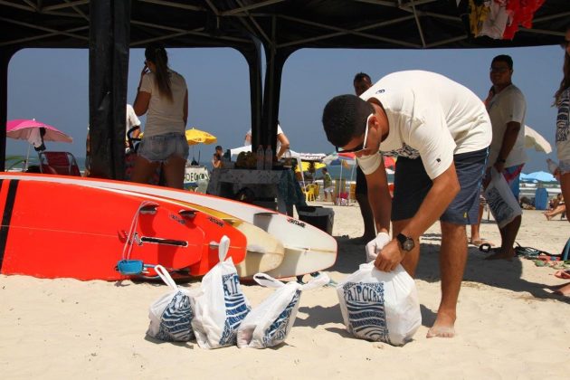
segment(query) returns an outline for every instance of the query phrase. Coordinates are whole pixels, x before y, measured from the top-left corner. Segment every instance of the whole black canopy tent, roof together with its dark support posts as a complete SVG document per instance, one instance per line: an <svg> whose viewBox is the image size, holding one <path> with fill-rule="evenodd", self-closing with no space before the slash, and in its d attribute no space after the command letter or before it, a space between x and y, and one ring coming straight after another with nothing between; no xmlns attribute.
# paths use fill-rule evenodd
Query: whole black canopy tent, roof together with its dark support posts
<svg viewBox="0 0 570 380"><path fill-rule="evenodd" d="M432 49L559 43L567 0L545 0L532 26L513 40L474 38L467 0L22 0L0 2L0 124L7 70L24 48L90 49L90 142L101 176L122 178L128 48L160 41L172 47L233 47L250 68L252 144L273 145L280 76L301 48ZM265 85L261 91L261 46ZM5 166L0 128L0 169Z"/></svg>

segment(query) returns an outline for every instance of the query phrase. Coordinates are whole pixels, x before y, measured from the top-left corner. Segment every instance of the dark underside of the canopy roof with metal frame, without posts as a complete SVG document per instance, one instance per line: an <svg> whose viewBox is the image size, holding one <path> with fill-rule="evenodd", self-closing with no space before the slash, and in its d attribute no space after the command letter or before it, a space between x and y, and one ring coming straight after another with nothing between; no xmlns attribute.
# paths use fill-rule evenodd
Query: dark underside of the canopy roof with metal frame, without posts
<svg viewBox="0 0 570 380"><path fill-rule="evenodd" d="M132 0L130 45L430 49L557 43L566 0L545 0L513 41L470 35L462 0ZM0 46L88 47L89 0L3 0Z"/></svg>

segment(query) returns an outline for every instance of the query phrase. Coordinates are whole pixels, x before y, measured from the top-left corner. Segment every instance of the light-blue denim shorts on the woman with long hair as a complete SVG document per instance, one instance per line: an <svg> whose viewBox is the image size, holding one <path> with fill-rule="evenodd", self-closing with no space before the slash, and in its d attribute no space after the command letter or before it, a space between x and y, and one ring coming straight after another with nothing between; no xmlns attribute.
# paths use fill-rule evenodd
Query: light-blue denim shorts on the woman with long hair
<svg viewBox="0 0 570 380"><path fill-rule="evenodd" d="M144 157L150 162L164 163L173 156L186 159L189 150L185 135L166 133L149 138L143 137L140 147L138 147L138 156Z"/></svg>

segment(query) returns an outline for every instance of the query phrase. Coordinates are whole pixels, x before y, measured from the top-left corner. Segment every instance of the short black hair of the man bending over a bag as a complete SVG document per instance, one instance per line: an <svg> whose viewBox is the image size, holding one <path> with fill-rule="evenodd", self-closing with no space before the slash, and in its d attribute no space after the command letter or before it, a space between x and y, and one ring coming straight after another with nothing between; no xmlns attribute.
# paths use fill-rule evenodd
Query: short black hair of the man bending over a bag
<svg viewBox="0 0 570 380"><path fill-rule="evenodd" d="M335 147L344 147L352 138L361 136L371 113L372 104L356 95L339 95L329 100L322 118L328 141Z"/></svg>

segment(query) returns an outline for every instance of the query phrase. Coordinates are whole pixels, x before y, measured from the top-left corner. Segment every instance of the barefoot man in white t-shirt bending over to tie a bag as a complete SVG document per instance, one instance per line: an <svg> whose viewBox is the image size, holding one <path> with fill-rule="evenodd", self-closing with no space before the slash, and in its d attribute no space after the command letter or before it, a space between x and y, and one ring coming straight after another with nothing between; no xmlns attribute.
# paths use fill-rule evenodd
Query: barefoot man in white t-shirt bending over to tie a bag
<svg viewBox="0 0 570 380"><path fill-rule="evenodd" d="M480 184L491 126L469 89L428 71L385 76L360 98L341 95L323 112L328 140L353 151L366 175L377 237L366 245L380 271L401 262L414 275L420 236L442 226L442 301L427 337L453 337L457 299L467 259L465 225L477 223ZM397 154L394 201L383 157ZM390 239L390 220L394 239Z"/></svg>

